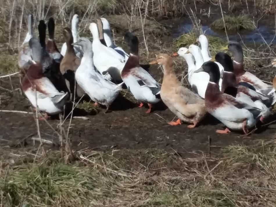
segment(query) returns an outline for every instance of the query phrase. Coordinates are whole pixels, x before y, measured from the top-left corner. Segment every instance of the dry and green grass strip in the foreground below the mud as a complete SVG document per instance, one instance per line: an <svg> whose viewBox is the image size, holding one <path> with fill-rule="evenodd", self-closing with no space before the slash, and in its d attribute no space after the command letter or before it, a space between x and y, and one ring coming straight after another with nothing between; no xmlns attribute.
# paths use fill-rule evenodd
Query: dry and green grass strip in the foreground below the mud
<svg viewBox="0 0 276 207"><path fill-rule="evenodd" d="M222 156L183 158L163 150L6 154L3 206L275 206L274 141L233 145ZM3 152L2 152L3 153ZM40 154L38 154L40 156ZM2 154L3 156L3 154ZM10 157L7 159L7 157ZM24 159L23 159L24 157ZM13 164L11 160L13 160ZM212 172L210 172L212 171Z"/></svg>

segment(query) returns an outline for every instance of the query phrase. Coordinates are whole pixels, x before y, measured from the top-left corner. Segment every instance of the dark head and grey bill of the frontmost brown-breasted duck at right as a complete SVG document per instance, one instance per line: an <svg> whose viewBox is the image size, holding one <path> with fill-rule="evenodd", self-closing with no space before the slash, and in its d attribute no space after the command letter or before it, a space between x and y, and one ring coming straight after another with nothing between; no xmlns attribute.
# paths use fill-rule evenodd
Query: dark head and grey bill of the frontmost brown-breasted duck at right
<svg viewBox="0 0 276 207"><path fill-rule="evenodd" d="M210 76L209 82L214 82L216 84L218 84L221 77L218 65L212 61L207 61L203 63L200 69L194 71L194 73L199 72L208 73Z"/></svg>

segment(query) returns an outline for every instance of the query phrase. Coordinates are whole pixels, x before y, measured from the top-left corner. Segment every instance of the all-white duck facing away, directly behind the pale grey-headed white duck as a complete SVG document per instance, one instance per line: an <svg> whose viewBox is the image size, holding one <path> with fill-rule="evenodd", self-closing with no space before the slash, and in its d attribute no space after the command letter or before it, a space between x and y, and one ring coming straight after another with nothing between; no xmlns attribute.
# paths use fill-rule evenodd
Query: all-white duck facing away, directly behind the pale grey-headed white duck
<svg viewBox="0 0 276 207"><path fill-rule="evenodd" d="M90 23L89 29L93 35L92 48L94 53L94 66L108 80L121 83L121 71L126 64L126 60L113 48L104 46L101 43L96 23Z"/></svg>

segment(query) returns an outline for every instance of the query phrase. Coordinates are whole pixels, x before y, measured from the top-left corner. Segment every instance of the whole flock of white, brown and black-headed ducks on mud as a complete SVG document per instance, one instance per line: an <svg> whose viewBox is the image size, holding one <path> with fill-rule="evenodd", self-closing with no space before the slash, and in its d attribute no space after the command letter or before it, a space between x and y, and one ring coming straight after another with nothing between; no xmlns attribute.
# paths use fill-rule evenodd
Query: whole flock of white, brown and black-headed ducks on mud
<svg viewBox="0 0 276 207"><path fill-rule="evenodd" d="M40 20L39 38L33 35L33 15L28 16L28 33L19 50L18 64L22 71L21 88L33 107L48 115L59 114L71 100L87 94L95 105L109 110L123 84L150 113L162 100L178 117L170 125L189 123L196 127L209 113L225 126L218 133L243 130L247 134L258 121L264 122L276 102L275 89L244 70L243 49L237 42L227 48L234 60L219 52L210 57L208 39L200 35L200 46L182 47L173 55L160 53L149 64L162 65L164 77L158 83L139 64L139 41L127 32L124 41L130 54L114 44L107 19L89 25L93 41L79 37L78 15L70 28L63 29L65 43L59 51L54 40L55 23ZM48 26L49 39L46 42ZM173 57L180 56L188 64L188 82L193 91L182 86L173 69Z"/></svg>

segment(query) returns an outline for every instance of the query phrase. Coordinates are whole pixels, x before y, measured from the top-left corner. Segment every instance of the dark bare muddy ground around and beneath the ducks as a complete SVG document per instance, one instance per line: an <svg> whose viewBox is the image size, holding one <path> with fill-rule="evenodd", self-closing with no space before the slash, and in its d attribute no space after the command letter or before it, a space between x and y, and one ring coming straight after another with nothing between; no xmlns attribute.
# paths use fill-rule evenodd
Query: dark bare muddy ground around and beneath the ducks
<svg viewBox="0 0 276 207"><path fill-rule="evenodd" d="M213 13L215 18L218 14L217 7L213 10ZM128 30L129 25L126 24L123 26L124 29L120 30L120 26L116 24L116 21L119 21L118 19L114 19L114 16L107 18L112 19L111 26L115 28L117 44L121 44L123 33ZM126 17L122 16L120 18ZM174 19L173 21L169 17L159 19L159 24L157 24L155 29L150 26L151 22L149 22L146 35L148 35L148 39L152 39L152 42L149 43L150 60L154 57L154 53L158 53L158 51L173 52L171 32L177 28L177 23L180 20L184 21L183 19L185 18L188 17ZM208 24L209 19L202 19L203 23ZM163 27L161 25L168 25L172 22L173 24L171 25L173 27ZM140 48L142 48L144 55L141 60L146 63L147 58L145 57L146 52L144 50L142 31L139 26L137 28L134 26L133 30L135 30L141 40ZM62 39L58 39L57 42L62 43ZM123 47L125 48L125 45ZM265 61L268 63L269 60ZM178 74L182 73L184 65L178 64L176 68ZM160 68L151 66L149 72L156 80L161 82L162 71ZM259 69L257 72L258 74L263 74L262 77L265 80L271 81L266 75L268 72L270 73L270 69ZM8 78L0 80L0 110L31 111L30 103L19 91L7 91L7 89L13 90L12 87L13 89L19 88L18 78L13 77L11 81ZM183 154L183 156L193 156L195 152L203 151L208 153L210 148L212 153L218 153L221 147L232 143L248 145L256 139L273 139L276 132L276 123L274 123L265 127L259 126L257 131L248 136L237 132L220 135L215 130L223 129L224 126L212 116L207 116L194 129L188 129L185 123L179 126L169 126L167 122L173 120L175 116L162 103L156 106L151 114L146 114L146 108L138 108L138 103L133 101L129 95L126 96L125 92L121 93L120 97L112 105L112 111L107 114L104 114L105 109L94 107L92 102L91 107L92 109L88 113L84 109L78 109L74 112L74 116L85 115L89 118L89 120L72 119L69 138L73 148L76 150L85 147L94 150L159 148L166 151L175 151ZM267 120L267 122L273 121L274 117L271 120ZM3 146L10 145L13 147L17 143L23 143L24 147L32 148L32 142L28 138L37 137L37 126L34 120L32 114L0 112L0 143ZM60 120L57 117L48 120L48 122L56 131L60 132L58 126ZM70 119L64 122L63 126L66 130L69 123ZM44 121L40 121L40 131L42 138L51 140L54 143L59 142L57 134ZM22 140L26 141L22 142ZM49 147L58 149L58 145L50 145Z"/></svg>

